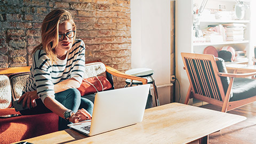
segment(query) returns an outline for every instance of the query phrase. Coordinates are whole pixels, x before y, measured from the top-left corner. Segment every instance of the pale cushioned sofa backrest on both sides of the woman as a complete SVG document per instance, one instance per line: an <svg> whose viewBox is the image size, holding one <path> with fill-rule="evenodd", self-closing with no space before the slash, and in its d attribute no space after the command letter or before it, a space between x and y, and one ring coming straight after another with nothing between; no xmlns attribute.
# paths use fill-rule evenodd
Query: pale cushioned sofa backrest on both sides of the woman
<svg viewBox="0 0 256 144"><path fill-rule="evenodd" d="M26 68L26 69L23 69ZM16 73L19 71L21 73ZM6 74L4 74L6 71ZM14 71L14 73L12 73ZM25 72L24 72L25 71ZM12 101L19 100L23 87L26 85L29 76L29 67L4 68L0 70L0 109L10 108ZM85 64L84 78L94 76L106 76L106 67L102 62L92 62Z"/></svg>

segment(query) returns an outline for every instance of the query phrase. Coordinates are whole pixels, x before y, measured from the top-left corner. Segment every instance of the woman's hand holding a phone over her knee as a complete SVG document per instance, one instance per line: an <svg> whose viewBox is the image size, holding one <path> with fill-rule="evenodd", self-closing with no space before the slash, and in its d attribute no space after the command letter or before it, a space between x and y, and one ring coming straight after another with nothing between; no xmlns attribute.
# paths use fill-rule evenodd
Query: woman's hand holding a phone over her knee
<svg viewBox="0 0 256 144"><path fill-rule="evenodd" d="M21 95L20 99L18 100L18 103L20 103L21 100L22 106L25 107L27 104L28 108L30 109L30 103L31 106L34 108L36 106L35 99L38 99L37 91L31 91L31 92L26 92L25 94Z"/></svg>

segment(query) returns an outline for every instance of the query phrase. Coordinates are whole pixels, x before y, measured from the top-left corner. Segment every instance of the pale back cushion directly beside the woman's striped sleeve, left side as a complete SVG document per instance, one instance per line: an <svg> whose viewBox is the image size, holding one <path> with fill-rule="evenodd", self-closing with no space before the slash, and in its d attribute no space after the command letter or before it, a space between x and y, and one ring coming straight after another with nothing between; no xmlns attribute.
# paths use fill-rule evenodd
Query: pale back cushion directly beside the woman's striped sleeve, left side
<svg viewBox="0 0 256 144"><path fill-rule="evenodd" d="M12 86L13 101L19 100L22 95L22 90L26 85L29 72L13 73L9 76Z"/></svg>

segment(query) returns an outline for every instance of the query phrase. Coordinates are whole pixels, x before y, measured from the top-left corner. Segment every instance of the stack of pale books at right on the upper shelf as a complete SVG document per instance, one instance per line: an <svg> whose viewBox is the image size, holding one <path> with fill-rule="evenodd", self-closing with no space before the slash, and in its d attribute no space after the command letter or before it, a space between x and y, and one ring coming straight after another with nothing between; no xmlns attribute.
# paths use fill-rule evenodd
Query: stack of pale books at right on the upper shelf
<svg viewBox="0 0 256 144"><path fill-rule="evenodd" d="M244 40L244 23L223 24L226 27L226 41L243 41Z"/></svg>

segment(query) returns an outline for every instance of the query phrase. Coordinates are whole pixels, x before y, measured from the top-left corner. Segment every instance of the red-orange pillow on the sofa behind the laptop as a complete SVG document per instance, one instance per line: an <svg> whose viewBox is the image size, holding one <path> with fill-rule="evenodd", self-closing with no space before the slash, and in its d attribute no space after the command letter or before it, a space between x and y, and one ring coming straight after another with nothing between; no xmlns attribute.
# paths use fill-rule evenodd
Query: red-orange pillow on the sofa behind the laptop
<svg viewBox="0 0 256 144"><path fill-rule="evenodd" d="M112 85L106 77L95 76L84 78L81 86L77 89L81 95L96 93L111 89Z"/></svg>

